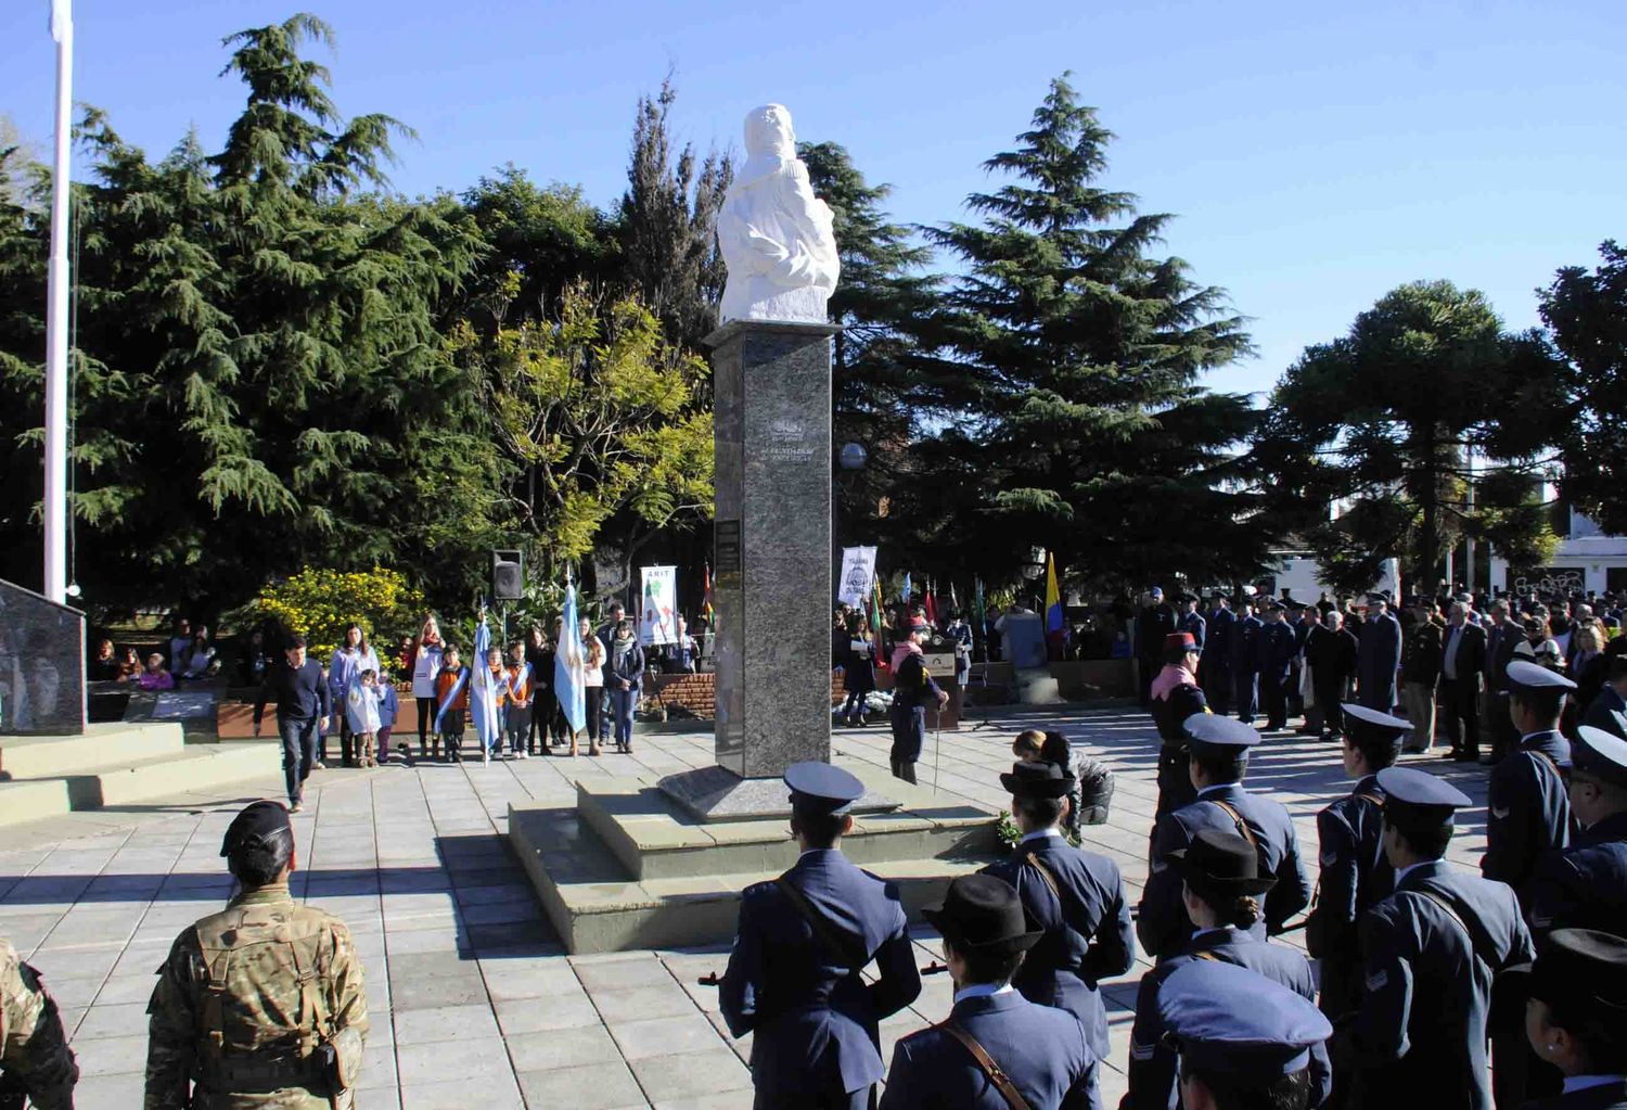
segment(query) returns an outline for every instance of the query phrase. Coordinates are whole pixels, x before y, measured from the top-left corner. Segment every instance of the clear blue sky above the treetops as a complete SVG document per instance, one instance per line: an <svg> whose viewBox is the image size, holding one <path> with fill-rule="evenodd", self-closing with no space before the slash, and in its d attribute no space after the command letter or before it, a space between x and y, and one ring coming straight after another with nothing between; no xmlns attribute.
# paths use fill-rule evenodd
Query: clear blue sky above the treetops
<svg viewBox="0 0 1627 1110"><path fill-rule="evenodd" d="M737 145L781 101L849 148L900 221L962 218L979 164L1074 70L1119 138L1110 187L1180 218L1168 251L1253 317L1259 358L1209 378L1264 391L1394 285L1484 290L1511 327L1533 290L1627 238L1620 0L1215 3L426 3L304 0L334 24L343 112L415 127L392 177L460 190L506 161L625 186L633 106L674 68L680 135ZM47 0L0 5L0 112L49 143ZM241 107L216 76L236 29L296 0L78 0L75 96L153 156Z"/></svg>

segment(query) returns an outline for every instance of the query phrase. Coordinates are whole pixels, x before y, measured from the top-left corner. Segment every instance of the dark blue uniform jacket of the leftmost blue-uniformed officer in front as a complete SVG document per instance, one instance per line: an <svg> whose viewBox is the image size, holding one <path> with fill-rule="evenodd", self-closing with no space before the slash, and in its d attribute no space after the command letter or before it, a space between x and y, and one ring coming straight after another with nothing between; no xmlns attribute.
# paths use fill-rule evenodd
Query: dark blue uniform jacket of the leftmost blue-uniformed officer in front
<svg viewBox="0 0 1627 1110"><path fill-rule="evenodd" d="M752 1077L763 1105L796 1105L836 1082L867 1089L883 1073L877 1024L921 993L892 884L836 850L802 853L786 877L836 931L862 937L879 977L866 983L843 967L774 884L747 887L719 1003L731 1034L753 1034Z"/></svg>

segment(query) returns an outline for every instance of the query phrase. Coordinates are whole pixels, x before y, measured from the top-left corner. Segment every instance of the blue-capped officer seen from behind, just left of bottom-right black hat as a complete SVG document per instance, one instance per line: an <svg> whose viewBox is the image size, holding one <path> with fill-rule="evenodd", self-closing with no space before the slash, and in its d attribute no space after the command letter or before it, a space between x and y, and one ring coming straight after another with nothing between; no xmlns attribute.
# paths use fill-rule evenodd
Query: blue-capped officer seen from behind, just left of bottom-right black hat
<svg viewBox="0 0 1627 1110"><path fill-rule="evenodd" d="M1492 980L1531 959L1531 933L1502 882L1451 867L1456 786L1407 767L1378 773L1396 890L1362 916L1367 968L1347 1027L1359 1107L1489 1110Z"/></svg>

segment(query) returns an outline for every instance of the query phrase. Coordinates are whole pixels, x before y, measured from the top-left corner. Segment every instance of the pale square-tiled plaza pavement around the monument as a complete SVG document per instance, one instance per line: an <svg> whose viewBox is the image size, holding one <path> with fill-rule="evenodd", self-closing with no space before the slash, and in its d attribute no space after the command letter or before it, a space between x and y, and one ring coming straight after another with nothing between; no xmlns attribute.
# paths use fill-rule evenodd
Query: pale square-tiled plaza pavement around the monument
<svg viewBox="0 0 1627 1110"><path fill-rule="evenodd" d="M942 737L940 789L989 807L1009 804L996 776L1010 765L1019 728L1059 728L1114 768L1111 822L1090 828L1090 841L1118 859L1134 902L1155 796L1157 741L1147 718L1069 711L968 724ZM838 732L836 749L887 760L880 729ZM1256 752L1250 786L1289 806L1302 854L1315 866L1315 814L1349 789L1337 750L1284 736ZM924 783L932 758L929 742ZM1482 768L1409 758L1484 801ZM294 892L350 923L366 965L373 1030L358 1105L750 1107L748 1038L727 1037L716 991L696 985L722 968L724 950L566 957L503 840L509 801L569 806L576 778L708 763L709 734L669 734L641 737L635 755L599 760L319 771L294 819ZM153 972L176 934L229 895L221 833L259 791L275 798L280 783L249 783L241 798L207 804L181 798L0 833L0 934L39 967L63 1006L83 1069L80 1107L140 1105ZM1484 811L1459 822L1455 858L1479 858L1482 822ZM929 929L916 936L924 965L939 950ZM1124 1089L1131 1007L1145 967L1139 962L1106 986L1108 1105ZM882 1025L888 1060L898 1037L940 1020L949 1003L947 977L927 978L916 1004Z"/></svg>

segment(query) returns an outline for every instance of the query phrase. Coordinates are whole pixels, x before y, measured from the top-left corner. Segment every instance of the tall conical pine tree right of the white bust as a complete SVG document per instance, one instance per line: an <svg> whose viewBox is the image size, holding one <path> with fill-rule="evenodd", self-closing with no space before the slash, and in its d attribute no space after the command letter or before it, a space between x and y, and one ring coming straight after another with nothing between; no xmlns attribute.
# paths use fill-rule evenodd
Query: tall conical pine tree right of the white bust
<svg viewBox="0 0 1627 1110"><path fill-rule="evenodd" d="M905 516L940 521L927 542L989 576L1035 548L1098 581L1253 571L1266 537L1241 521L1254 498L1232 451L1248 402L1196 386L1250 340L1222 290L1154 254L1170 216L1097 184L1111 138L1067 75L1051 81L1019 146L984 163L1007 184L968 199L983 221L932 229L965 265L936 321L960 413L923 448L934 480Z"/></svg>

